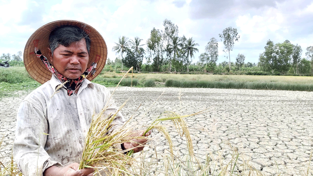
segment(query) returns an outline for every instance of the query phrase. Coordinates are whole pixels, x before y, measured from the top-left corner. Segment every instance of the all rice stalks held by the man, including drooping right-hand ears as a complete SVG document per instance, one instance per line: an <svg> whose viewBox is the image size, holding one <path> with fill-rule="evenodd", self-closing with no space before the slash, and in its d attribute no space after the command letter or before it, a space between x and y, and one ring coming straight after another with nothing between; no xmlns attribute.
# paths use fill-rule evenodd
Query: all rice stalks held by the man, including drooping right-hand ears
<svg viewBox="0 0 313 176"><path fill-rule="evenodd" d="M128 70L128 72L130 70ZM121 108L125 105L125 103L121 106ZM165 126L159 124L160 122L167 121L167 120L170 120L172 121L172 123L174 123L174 127L177 129L178 133L181 134L181 136L182 135L186 136L188 151L191 156L194 156L193 147L192 147L192 139L190 137L188 127L185 121L183 120L183 118L197 115L203 112L184 115L184 116L181 116L174 112L162 113L158 118L156 118L156 120L154 120L151 123L151 125L148 125L148 128L144 132L143 136L133 137L131 136L132 128L125 127L125 125L129 122L131 118L126 123L124 123L124 125L118 130L108 133L111 128L110 124L115 119L117 113L121 110L121 108L119 108L118 111L116 111L114 114L109 114L109 115L104 114L106 108L107 108L107 105L105 105L105 107L102 109L102 111L98 115L94 114L92 117L92 122L90 123L90 129L87 133L86 140L85 140L85 145L84 145L83 154L82 154L81 163L80 163L80 169L91 167L99 171L99 169L106 168L108 172L110 173L110 175L134 175L136 174L131 171L131 170L136 170L136 168L140 168L139 166L136 166L136 162L135 162L136 159L131 157L132 154L134 153L134 150L128 149L127 150L128 153L124 154L124 152L127 152L127 151L121 151L121 149L117 149L117 145L120 145L122 143L130 143L130 142L134 143L133 139L146 138L145 137L146 133L148 133L149 130L151 129L158 130L167 139L169 143L170 152L172 153L172 160L174 161L174 155L173 155L174 146L172 144L172 140Z"/></svg>

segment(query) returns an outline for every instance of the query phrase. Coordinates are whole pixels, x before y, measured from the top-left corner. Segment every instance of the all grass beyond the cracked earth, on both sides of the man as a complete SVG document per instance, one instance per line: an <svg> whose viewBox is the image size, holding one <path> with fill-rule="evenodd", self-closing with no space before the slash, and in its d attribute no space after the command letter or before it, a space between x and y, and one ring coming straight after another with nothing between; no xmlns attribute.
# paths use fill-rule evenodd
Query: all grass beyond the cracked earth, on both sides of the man
<svg viewBox="0 0 313 176"><path fill-rule="evenodd" d="M102 71L92 82L106 87L116 86L125 73ZM165 84L164 84L165 83ZM313 77L128 73L121 86L236 88L264 90L313 91ZM0 98L17 96L16 91L29 92L40 84L31 78L24 67L0 68Z"/></svg>

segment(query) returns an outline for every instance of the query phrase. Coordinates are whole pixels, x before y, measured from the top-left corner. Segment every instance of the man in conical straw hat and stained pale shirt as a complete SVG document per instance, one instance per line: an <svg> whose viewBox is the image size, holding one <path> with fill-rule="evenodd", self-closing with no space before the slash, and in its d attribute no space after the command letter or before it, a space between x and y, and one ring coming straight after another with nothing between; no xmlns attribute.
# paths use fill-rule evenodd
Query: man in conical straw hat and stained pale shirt
<svg viewBox="0 0 313 176"><path fill-rule="evenodd" d="M43 85L30 93L18 109L13 155L25 176L92 175L94 169L78 170L92 114L99 113L105 104L109 105L105 114L117 111L107 88L90 82L104 67L106 53L101 35L77 21L48 23L29 38L24 64L28 73ZM119 112L109 133L124 122ZM138 143L117 147L136 147L138 152L143 149Z"/></svg>

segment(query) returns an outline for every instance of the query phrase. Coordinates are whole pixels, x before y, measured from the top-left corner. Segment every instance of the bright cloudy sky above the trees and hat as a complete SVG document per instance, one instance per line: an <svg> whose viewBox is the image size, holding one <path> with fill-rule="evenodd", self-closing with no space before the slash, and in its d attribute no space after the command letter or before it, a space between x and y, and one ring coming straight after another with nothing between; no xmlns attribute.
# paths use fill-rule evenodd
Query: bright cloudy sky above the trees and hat
<svg viewBox="0 0 313 176"><path fill-rule="evenodd" d="M56 20L77 20L94 27L105 39L108 58L118 38L139 37L145 44L153 28L164 30L163 21L178 26L178 36L198 43L199 60L211 38L218 40L218 61L228 61L219 34L225 28L238 30L239 41L230 51L231 62L239 53L245 63L258 63L266 42L289 40L306 48L313 46L313 1L309 0L0 0L0 54L24 50L38 28ZM143 46L146 49L146 45Z"/></svg>

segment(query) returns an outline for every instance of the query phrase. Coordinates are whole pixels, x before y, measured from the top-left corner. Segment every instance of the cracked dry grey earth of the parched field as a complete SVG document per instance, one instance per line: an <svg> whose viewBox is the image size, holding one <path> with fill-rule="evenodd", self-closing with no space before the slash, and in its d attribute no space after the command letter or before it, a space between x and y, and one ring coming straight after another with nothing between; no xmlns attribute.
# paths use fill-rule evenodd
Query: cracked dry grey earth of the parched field
<svg viewBox="0 0 313 176"><path fill-rule="evenodd" d="M114 88L109 89L112 92ZM150 124L164 111L183 115L207 109L185 119L192 127L190 134L198 158L205 159L207 153L227 158L238 149L239 160L265 175L307 175L308 170L308 175L313 175L312 95L279 90L120 87L113 97L118 106L130 98L122 113L126 118L134 114L131 126ZM0 100L0 134L7 144L0 150L0 161L9 160L17 108L25 96ZM168 130L176 154L183 156L187 153L184 138L173 128ZM151 137L146 152L168 149L160 133L153 131Z"/></svg>

